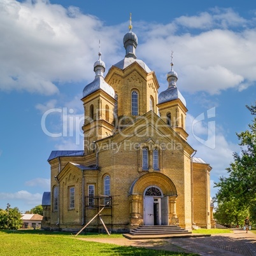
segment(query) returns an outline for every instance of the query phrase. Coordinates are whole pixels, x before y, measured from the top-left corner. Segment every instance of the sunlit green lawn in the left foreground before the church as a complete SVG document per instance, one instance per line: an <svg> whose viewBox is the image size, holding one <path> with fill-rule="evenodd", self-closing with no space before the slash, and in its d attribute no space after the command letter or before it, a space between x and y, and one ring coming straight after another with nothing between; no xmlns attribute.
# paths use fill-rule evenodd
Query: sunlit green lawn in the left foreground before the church
<svg viewBox="0 0 256 256"><path fill-rule="evenodd" d="M110 238L108 235L79 235L80 238L95 237ZM111 238L121 238L122 235L111 235ZM134 246L118 246L106 243L82 241L70 233L45 231L0 231L0 255L125 255L154 256L176 255L196 256L194 253L177 253L161 250L151 250Z"/></svg>

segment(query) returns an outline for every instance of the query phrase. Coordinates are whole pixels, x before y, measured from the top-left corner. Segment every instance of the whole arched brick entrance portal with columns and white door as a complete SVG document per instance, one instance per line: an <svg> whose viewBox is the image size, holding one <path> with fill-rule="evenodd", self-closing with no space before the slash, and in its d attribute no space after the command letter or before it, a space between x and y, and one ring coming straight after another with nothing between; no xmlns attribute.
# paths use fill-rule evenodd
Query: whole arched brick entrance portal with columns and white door
<svg viewBox="0 0 256 256"><path fill-rule="evenodd" d="M170 225L177 223L177 190L166 175L147 173L130 188L130 225Z"/></svg>

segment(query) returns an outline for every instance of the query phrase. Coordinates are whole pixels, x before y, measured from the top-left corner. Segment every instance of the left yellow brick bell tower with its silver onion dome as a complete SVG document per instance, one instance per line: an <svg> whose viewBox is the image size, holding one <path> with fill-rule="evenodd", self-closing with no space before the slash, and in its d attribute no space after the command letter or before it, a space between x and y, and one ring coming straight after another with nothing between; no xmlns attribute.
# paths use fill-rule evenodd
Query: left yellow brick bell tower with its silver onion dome
<svg viewBox="0 0 256 256"><path fill-rule="evenodd" d="M94 63L95 79L83 89L85 154L94 152L94 141L112 135L114 129L115 91L105 82L104 71L105 63L99 51L99 59Z"/></svg>

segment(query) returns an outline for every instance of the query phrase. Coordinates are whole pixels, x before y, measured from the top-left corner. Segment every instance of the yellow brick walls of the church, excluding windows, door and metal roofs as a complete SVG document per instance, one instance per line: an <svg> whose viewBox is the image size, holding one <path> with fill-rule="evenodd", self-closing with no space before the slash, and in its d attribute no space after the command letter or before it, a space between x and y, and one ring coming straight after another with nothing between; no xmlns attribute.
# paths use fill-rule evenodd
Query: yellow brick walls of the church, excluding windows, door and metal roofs
<svg viewBox="0 0 256 256"><path fill-rule="evenodd" d="M88 187L95 185L95 195L103 194L103 179L110 175L110 192L113 197L113 207L103 210L102 217L105 224L118 230L129 230L136 225L143 224L143 193L146 188L157 185L164 194L169 196L169 214L175 216L169 218L169 224L177 221L181 227L192 228L192 213L194 222L198 225L209 227L210 216L210 176L207 165L194 165L192 176L190 155L194 150L185 139L185 116L187 108L180 100L157 105L159 84L155 74L146 73L139 64L130 65L124 70L112 67L105 78L118 94L118 115L131 116L131 92L136 89L139 92L139 115L134 124L131 119L129 127L118 130L113 126L113 115L106 122L105 111L108 104L113 111L115 100L100 90L82 99L85 108L85 116L90 116L90 104L94 104L94 113L99 109L99 119L92 124L85 122L83 132L85 143L96 142L96 147L87 150L83 157L60 157L50 161L51 165L51 191L55 185L59 185L59 214L51 209L51 225L56 227L59 217L60 229L69 230L81 228L81 224L90 221L101 208L83 207L83 197L89 196ZM158 112L163 120L150 110L150 97L153 99L153 111ZM166 113L171 112L172 122L183 115L183 132L166 125ZM179 120L179 125L181 122ZM124 128L124 127L122 127ZM181 127L178 127L181 129ZM175 132L174 130L176 129ZM180 134L180 135L179 135ZM149 168L143 170L141 166L142 148L149 150ZM152 150L159 148L159 170L152 166ZM81 171L76 166L69 164L83 164L84 166L98 166L98 170ZM59 183L55 179L59 178ZM136 187L138 180L141 187ZM193 181L193 182L192 182ZM82 187L82 183L84 184ZM134 185L135 184L135 185ZM135 194L130 194L132 188ZM69 187L75 187L75 209L69 209ZM174 191L177 192L176 197ZM171 194L168 194L171 193ZM194 196L194 208L192 208L192 196ZM175 204L176 202L176 204ZM86 205L86 202L85 202ZM175 207L174 207L175 206ZM194 210L194 211L193 211ZM110 217L112 215L112 218ZM99 219L96 218L90 228L97 228Z"/></svg>

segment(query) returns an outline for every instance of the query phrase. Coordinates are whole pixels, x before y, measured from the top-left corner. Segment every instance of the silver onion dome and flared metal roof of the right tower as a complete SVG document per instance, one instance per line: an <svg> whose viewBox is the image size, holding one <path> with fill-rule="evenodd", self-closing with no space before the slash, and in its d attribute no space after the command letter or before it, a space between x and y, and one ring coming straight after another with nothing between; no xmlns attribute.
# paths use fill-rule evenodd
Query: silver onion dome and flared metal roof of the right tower
<svg viewBox="0 0 256 256"><path fill-rule="evenodd" d="M186 106L184 97L176 87L177 80L178 74L173 70L173 62L171 62L171 71L167 73L168 88L159 94L159 104L173 101L174 99L180 99L184 106Z"/></svg>

